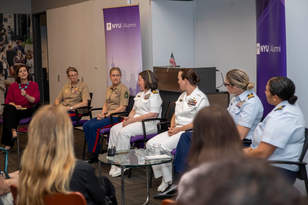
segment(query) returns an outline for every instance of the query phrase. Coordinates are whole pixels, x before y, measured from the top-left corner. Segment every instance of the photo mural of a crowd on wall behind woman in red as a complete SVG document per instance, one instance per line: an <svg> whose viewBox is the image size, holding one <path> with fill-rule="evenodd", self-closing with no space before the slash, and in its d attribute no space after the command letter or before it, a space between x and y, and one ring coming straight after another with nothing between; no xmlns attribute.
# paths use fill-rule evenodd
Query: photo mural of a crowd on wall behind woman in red
<svg viewBox="0 0 308 205"><path fill-rule="evenodd" d="M0 104L5 103L8 87L15 82L18 65L29 66L34 76L31 14L0 13ZM2 113L3 106L0 108Z"/></svg>

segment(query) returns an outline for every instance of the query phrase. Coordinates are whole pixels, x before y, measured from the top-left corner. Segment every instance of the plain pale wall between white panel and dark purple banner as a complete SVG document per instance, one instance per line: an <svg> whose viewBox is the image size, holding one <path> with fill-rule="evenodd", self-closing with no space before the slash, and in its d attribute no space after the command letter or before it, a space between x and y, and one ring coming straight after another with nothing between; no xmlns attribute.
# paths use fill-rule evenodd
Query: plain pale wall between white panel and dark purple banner
<svg viewBox="0 0 308 205"><path fill-rule="evenodd" d="M226 0L194 3L196 67L216 67L224 78L231 69L243 69L256 83L255 0L237 0L234 5ZM223 83L219 72L216 82L216 87Z"/></svg>

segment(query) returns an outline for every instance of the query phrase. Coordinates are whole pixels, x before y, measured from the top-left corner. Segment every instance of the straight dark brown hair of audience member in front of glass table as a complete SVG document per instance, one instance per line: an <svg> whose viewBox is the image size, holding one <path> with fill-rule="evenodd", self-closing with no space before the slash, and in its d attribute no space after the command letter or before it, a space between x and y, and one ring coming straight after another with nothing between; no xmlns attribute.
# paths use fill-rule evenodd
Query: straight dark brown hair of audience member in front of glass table
<svg viewBox="0 0 308 205"><path fill-rule="evenodd" d="M221 156L243 155L242 142L234 120L218 105L202 108L193 121L189 164L214 161Z"/></svg>

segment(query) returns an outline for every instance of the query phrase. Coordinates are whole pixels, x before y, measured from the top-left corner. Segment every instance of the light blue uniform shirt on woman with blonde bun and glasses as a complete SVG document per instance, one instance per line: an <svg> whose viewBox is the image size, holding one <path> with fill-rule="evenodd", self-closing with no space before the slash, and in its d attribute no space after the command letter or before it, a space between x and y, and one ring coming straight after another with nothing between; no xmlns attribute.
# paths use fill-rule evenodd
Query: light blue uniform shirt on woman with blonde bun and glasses
<svg viewBox="0 0 308 205"><path fill-rule="evenodd" d="M227 108L236 126L239 124L250 128L245 139L251 140L253 131L263 116L263 106L260 98L253 90L245 90L241 95L236 95Z"/></svg>

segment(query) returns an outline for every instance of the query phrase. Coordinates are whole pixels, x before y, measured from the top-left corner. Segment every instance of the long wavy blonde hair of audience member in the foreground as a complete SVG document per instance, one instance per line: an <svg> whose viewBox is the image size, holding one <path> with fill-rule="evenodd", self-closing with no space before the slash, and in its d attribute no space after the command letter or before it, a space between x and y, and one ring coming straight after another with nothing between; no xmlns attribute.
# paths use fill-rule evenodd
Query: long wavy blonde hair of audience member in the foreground
<svg viewBox="0 0 308 205"><path fill-rule="evenodd" d="M68 193L75 163L67 112L62 106L40 108L29 125L16 204L44 205L45 194Z"/></svg>

